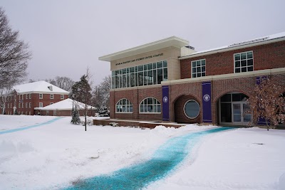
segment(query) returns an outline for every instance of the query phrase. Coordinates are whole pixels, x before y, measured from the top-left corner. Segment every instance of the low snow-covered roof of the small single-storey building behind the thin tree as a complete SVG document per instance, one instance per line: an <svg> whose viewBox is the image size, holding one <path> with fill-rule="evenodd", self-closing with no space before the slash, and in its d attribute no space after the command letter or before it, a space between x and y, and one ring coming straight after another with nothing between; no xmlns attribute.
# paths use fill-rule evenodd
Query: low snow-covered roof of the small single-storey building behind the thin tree
<svg viewBox="0 0 285 190"><path fill-rule="evenodd" d="M73 105L74 103L74 105ZM73 100L68 98L66 100L62 100L60 102L56 102L52 105L48 105L46 107L36 107L36 110L72 110L72 107L78 107L78 109L84 109L85 108L85 104L83 102L78 102L76 100ZM97 110L96 107L87 105L87 109L88 110Z"/></svg>

